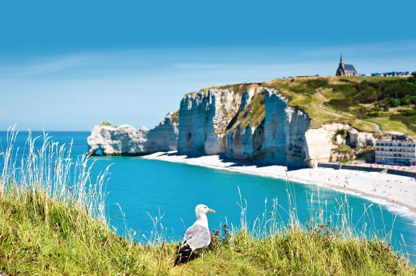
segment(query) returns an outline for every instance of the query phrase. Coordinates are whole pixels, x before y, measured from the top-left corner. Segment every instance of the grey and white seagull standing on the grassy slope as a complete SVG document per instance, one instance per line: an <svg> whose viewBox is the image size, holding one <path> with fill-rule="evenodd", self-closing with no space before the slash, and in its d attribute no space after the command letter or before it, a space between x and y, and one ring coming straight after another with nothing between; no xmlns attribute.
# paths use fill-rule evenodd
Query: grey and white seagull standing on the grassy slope
<svg viewBox="0 0 416 276"><path fill-rule="evenodd" d="M214 213L215 211L209 209L204 204L199 204L195 207L196 221L185 232L182 245L176 252L175 265L187 262L194 251L200 251L202 253L202 261L204 261L204 248L211 242L207 212Z"/></svg>

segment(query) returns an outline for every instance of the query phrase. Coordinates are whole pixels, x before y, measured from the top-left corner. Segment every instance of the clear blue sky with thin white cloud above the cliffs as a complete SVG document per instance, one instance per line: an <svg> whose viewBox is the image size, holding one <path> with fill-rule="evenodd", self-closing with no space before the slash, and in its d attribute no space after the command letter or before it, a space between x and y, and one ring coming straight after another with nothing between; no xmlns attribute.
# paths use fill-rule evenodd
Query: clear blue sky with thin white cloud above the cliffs
<svg viewBox="0 0 416 276"><path fill-rule="evenodd" d="M364 2L364 3L363 3ZM0 129L152 128L184 94L416 70L416 1L3 1Z"/></svg>

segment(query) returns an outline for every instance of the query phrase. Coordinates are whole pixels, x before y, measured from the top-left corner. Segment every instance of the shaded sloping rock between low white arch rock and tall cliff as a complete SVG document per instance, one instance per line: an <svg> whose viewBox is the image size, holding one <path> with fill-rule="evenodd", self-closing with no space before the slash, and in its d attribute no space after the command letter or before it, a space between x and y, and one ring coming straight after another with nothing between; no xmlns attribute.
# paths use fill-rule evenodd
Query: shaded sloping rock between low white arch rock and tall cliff
<svg viewBox="0 0 416 276"><path fill-rule="evenodd" d="M168 113L159 126L148 131L145 144L147 152L178 149L178 115L179 111Z"/></svg>

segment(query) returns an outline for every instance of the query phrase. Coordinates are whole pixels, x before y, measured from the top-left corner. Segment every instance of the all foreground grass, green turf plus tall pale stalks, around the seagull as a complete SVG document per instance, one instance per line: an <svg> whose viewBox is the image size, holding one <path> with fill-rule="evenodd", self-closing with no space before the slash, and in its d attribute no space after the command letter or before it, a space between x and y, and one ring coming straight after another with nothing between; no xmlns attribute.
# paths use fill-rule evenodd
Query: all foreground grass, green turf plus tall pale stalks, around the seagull
<svg viewBox="0 0 416 276"><path fill-rule="evenodd" d="M15 149L17 134L14 127L9 129L7 147L0 154L0 274L416 274L406 252L393 250L391 233L375 229L370 206L363 213L368 223L357 229L347 192L337 198L342 215L336 219L326 212L320 192L317 198L311 194L310 218L301 223L289 180L288 206L280 206L274 198L268 210L266 199L264 212L250 223L240 193L240 225L229 229L225 224L213 231L204 262L197 258L174 267L178 242L167 236L162 213L149 215L154 228L147 236L129 230L126 223L123 236L110 226L105 208L108 167L93 177L93 160L72 159L71 144L67 150L46 133L32 137L29 132L24 149ZM37 139L43 139L39 149ZM19 164L18 156L22 156Z"/></svg>

